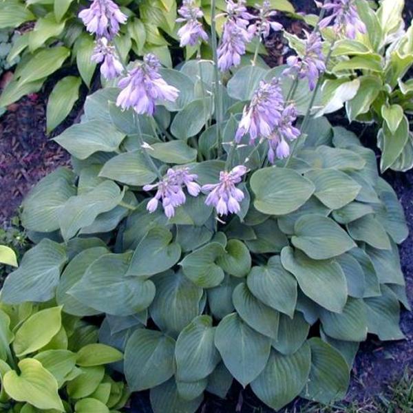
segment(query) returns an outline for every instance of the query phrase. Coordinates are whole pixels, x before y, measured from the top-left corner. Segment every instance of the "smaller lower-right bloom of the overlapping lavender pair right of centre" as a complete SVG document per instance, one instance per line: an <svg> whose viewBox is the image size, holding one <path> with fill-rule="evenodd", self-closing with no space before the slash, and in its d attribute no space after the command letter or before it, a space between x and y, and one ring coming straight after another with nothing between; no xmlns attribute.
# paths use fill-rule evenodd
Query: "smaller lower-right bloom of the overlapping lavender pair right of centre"
<svg viewBox="0 0 413 413"><path fill-rule="evenodd" d="M290 155L290 147L286 140L295 140L301 132L293 123L297 119L297 111L294 105L286 106L282 111L277 126L272 134L268 136L268 160L275 162L275 156L279 159L286 158Z"/></svg>

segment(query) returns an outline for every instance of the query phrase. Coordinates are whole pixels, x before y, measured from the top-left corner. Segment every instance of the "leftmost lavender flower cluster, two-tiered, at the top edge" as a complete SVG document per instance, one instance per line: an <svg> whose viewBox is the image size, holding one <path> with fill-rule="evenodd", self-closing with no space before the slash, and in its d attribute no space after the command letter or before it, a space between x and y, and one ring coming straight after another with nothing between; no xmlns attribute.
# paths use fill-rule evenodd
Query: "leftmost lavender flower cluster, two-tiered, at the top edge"
<svg viewBox="0 0 413 413"><path fill-rule="evenodd" d="M78 17L86 25L87 31L97 36L92 60L103 62L100 73L107 80L116 78L122 72L123 65L109 42L118 34L119 25L127 21L126 15L112 0L94 0Z"/></svg>

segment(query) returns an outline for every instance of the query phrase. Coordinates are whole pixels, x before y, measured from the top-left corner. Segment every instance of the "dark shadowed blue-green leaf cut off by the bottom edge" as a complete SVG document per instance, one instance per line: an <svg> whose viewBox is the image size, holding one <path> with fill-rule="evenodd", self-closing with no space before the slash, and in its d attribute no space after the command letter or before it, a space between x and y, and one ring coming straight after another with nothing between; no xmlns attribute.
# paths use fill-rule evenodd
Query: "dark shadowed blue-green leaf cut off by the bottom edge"
<svg viewBox="0 0 413 413"><path fill-rule="evenodd" d="M153 413L195 413L202 403L202 395L193 400L185 400L180 396L175 379L151 388L151 407Z"/></svg>

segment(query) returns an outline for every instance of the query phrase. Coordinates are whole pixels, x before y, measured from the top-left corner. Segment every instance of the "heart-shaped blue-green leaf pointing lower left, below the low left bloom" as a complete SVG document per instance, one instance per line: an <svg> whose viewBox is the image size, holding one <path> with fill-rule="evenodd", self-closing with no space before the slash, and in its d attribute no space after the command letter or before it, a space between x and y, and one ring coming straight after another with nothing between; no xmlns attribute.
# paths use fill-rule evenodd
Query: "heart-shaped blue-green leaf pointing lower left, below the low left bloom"
<svg viewBox="0 0 413 413"><path fill-rule="evenodd" d="M181 255L179 244L172 241L172 233L158 226L149 230L138 244L126 276L149 277L174 266Z"/></svg>

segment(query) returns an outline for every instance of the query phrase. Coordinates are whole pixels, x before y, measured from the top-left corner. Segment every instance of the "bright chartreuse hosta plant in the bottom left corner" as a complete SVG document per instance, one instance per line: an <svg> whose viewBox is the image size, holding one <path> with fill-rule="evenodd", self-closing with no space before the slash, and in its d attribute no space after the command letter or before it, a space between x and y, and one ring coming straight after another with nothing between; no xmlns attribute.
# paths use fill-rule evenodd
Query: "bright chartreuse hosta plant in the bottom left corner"
<svg viewBox="0 0 413 413"><path fill-rule="evenodd" d="M51 302L1 302L0 320L1 412L109 413L125 405L127 386L105 371L123 354L96 343L96 326Z"/></svg>

